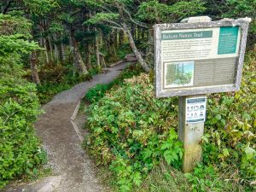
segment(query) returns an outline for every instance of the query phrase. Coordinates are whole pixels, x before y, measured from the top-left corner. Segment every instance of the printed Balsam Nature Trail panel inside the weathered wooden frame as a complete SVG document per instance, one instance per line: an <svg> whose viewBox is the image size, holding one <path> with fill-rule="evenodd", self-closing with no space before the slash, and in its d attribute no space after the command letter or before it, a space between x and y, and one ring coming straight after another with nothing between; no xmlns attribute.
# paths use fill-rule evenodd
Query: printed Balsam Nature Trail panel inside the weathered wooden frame
<svg viewBox="0 0 256 192"><path fill-rule="evenodd" d="M161 32L162 89L234 84L239 26Z"/></svg>

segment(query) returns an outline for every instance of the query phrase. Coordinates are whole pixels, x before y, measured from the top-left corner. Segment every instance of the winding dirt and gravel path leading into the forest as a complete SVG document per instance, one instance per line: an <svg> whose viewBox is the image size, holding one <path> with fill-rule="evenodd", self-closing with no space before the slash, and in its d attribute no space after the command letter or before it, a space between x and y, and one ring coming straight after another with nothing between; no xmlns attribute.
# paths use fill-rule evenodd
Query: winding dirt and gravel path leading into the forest
<svg viewBox="0 0 256 192"><path fill-rule="evenodd" d="M36 123L36 131L49 154L49 165L54 177L47 177L37 183L16 186L6 191L22 192L90 192L106 191L98 183L95 170L88 154L84 153L77 132L71 123L73 112L84 93L96 84L108 84L115 79L126 63L98 74L90 82L77 84L71 90L56 95L43 108Z"/></svg>

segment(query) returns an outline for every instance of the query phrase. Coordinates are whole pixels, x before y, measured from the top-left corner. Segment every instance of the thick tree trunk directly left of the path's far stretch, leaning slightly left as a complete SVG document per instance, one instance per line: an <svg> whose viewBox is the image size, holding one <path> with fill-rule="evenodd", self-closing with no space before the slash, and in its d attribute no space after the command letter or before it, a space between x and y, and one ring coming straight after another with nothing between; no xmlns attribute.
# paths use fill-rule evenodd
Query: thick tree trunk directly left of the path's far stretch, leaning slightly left
<svg viewBox="0 0 256 192"><path fill-rule="evenodd" d="M78 69L80 75L87 74L88 73L87 68L84 65L84 61L79 51L79 44L74 38L73 33L74 33L73 30L71 30L69 41L70 41L71 53L73 55L74 66Z"/></svg>

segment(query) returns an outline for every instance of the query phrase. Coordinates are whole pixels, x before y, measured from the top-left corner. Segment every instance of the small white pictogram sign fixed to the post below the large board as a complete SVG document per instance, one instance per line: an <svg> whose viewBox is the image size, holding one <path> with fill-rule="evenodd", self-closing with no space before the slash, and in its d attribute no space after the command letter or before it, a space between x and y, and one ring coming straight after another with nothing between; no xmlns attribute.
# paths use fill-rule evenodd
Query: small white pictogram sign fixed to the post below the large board
<svg viewBox="0 0 256 192"><path fill-rule="evenodd" d="M186 123L199 123L206 120L207 97L186 99Z"/></svg>

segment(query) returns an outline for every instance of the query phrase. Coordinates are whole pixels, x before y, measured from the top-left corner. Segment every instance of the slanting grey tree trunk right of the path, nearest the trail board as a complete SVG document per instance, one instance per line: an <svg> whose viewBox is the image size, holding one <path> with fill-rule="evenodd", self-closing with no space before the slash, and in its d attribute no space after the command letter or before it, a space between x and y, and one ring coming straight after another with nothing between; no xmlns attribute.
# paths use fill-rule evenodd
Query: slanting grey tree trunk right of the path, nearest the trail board
<svg viewBox="0 0 256 192"><path fill-rule="evenodd" d="M131 45L131 49L134 53L134 55L136 55L137 57L137 60L139 61L140 65L143 67L143 69L149 73L150 71L150 68L148 67L147 63L144 61L143 59L143 55L139 52L139 50L137 49L137 46L136 44L134 43L134 40L132 38L132 34L131 34L131 31L127 28L126 24L123 23L123 26L124 26L124 29L125 29L125 33L127 34L128 36L128 39L129 39L129 42L130 42L130 45Z"/></svg>

